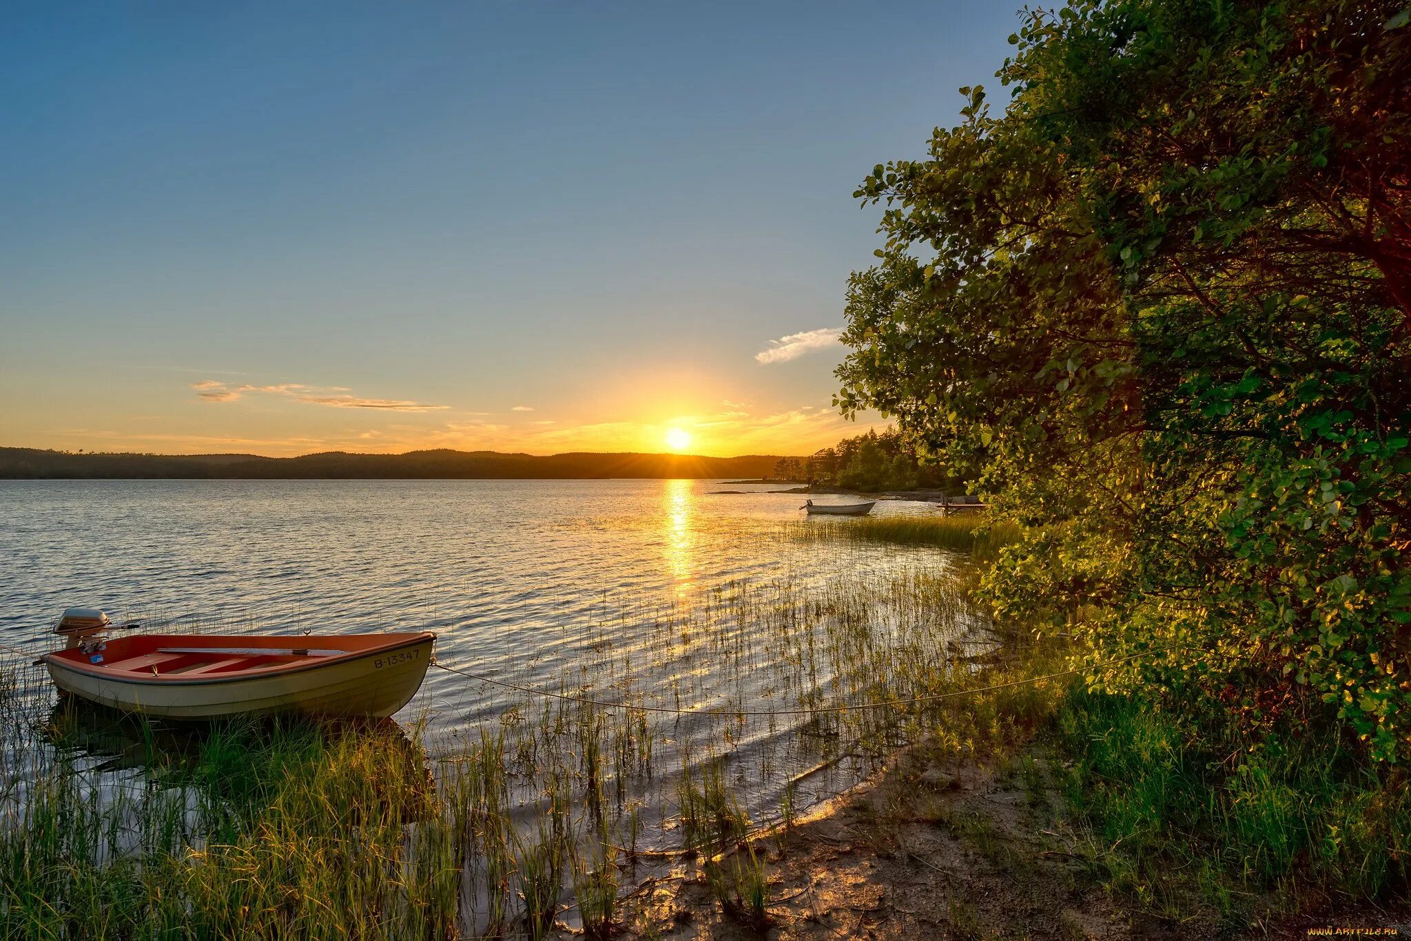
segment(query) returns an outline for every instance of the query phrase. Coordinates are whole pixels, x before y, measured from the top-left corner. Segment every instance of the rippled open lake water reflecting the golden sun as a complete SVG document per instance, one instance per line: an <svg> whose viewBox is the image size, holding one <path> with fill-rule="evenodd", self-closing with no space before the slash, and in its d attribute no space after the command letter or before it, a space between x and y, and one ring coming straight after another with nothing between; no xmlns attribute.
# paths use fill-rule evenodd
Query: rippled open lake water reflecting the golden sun
<svg viewBox="0 0 1411 941"><path fill-rule="evenodd" d="M889 580L935 573L947 556L800 538L810 525L800 495L763 485L711 494L721 488L690 480L0 481L0 643L49 649L56 615L85 605L175 629L430 629L437 660L477 676L659 708L787 710L806 696L817 703L861 688L834 681L837 655L807 653L803 663L789 653L818 646L813 625L799 626L810 617L800 600L845 584L880 629L920 621L926 612L885 609ZM873 511L930 512L902 501ZM766 636L786 608L797 635L787 650ZM796 676L804 670L813 672L807 683ZM42 670L25 680L48 683ZM473 735L532 700L433 669L398 718L423 721L435 752L435 742ZM660 748L714 734L691 721L653 715ZM804 724L780 715L727 729L732 758L753 769L748 790L761 807L817 762ZM858 773L844 763L810 779L801 803Z"/></svg>

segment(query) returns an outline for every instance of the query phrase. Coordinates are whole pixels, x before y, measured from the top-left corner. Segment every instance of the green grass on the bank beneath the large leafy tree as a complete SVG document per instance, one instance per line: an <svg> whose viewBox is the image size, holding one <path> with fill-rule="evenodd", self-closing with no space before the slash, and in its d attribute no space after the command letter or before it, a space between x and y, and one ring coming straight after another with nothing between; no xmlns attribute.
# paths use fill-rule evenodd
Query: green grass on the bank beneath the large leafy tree
<svg viewBox="0 0 1411 941"><path fill-rule="evenodd" d="M1297 906L1407 892L1405 772L1374 773L1336 739L1253 743L1209 717L1081 687L1057 717L1077 759L1068 804L1091 827L1095 865L1156 910L1237 918L1253 893Z"/></svg>

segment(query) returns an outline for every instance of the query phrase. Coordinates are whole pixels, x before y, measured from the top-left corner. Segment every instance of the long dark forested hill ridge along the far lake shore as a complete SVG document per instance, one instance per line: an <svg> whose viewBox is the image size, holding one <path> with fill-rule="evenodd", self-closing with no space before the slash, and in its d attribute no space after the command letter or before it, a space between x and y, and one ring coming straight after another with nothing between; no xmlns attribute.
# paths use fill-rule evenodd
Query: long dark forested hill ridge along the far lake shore
<svg viewBox="0 0 1411 941"><path fill-rule="evenodd" d="M255 454L72 454L0 447L0 478L715 478L768 477L779 454L694 457L686 454L501 454L498 451L408 451L302 457Z"/></svg>

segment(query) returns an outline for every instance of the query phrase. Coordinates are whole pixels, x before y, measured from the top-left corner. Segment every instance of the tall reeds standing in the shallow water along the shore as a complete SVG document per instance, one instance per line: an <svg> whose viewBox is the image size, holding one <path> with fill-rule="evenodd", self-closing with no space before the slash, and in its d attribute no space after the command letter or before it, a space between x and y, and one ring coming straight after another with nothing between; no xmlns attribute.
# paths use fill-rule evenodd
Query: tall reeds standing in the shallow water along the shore
<svg viewBox="0 0 1411 941"><path fill-rule="evenodd" d="M676 851L708 862L732 886L722 904L759 924L752 832L780 806L796 813L794 770L855 766L841 784L941 722L959 743L1005 721L952 703L787 711L927 696L995 669L974 662L995 645L983 619L933 569L624 605L564 672L556 688L571 698L512 694L433 738L395 724L106 729L72 704L51 711L48 688L7 667L3 934L539 938L567 923L607 937L622 873Z"/></svg>

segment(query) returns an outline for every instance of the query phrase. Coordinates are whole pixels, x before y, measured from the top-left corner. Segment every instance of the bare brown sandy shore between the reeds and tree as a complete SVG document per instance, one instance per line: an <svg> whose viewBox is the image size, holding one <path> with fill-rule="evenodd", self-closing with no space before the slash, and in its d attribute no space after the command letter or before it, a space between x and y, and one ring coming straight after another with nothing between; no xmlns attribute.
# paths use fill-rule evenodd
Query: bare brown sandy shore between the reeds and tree
<svg viewBox="0 0 1411 941"><path fill-rule="evenodd" d="M1404 924L1366 903L1256 921L1230 934L1213 913L1163 918L1113 893L1064 818L1060 767L1041 748L996 765L900 755L787 831L756 838L770 925L728 917L700 866L643 886L622 937L777 941L1307 938L1309 928ZM1223 930L1222 930L1223 928Z"/></svg>

